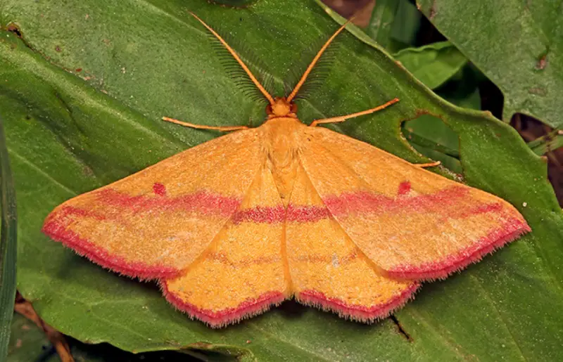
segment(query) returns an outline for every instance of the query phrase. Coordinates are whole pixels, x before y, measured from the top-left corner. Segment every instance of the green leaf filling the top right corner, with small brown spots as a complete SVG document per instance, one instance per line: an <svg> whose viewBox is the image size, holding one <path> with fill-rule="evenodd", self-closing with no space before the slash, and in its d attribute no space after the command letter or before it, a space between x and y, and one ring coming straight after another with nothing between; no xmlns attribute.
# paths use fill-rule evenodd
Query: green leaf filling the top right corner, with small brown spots
<svg viewBox="0 0 563 362"><path fill-rule="evenodd" d="M563 18L559 1L418 0L429 20L505 95L515 112L563 124Z"/></svg>

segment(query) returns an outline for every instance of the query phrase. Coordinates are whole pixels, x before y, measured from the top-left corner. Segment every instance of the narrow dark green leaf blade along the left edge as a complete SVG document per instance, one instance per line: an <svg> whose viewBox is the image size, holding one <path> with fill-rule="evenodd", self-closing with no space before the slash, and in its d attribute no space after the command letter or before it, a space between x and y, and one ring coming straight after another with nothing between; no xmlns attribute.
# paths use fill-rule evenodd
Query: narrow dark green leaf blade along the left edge
<svg viewBox="0 0 563 362"><path fill-rule="evenodd" d="M3 118L0 117L0 360L2 361L8 354L15 299L18 226L14 191Z"/></svg>

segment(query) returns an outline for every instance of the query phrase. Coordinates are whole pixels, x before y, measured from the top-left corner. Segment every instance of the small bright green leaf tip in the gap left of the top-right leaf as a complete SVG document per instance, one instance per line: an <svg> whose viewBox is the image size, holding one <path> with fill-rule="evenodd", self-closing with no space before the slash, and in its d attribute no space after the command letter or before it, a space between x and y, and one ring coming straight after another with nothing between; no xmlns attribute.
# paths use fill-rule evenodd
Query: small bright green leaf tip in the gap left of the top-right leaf
<svg viewBox="0 0 563 362"><path fill-rule="evenodd" d="M444 84L467 63L467 58L449 41L403 49L393 58L430 89Z"/></svg>

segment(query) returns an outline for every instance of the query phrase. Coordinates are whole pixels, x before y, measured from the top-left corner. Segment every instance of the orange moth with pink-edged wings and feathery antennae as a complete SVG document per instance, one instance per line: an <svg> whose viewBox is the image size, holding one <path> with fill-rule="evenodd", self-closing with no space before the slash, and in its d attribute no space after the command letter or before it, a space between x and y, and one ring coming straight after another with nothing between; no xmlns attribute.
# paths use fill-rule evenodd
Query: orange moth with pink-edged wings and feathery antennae
<svg viewBox="0 0 563 362"><path fill-rule="evenodd" d="M194 14L192 14L194 15ZM267 101L260 127L227 131L137 174L79 195L43 232L125 276L154 279L191 318L219 328L286 299L369 323L530 231L495 195L321 124L294 103L339 28L289 96L272 97L203 20ZM383 111L385 112L385 111Z"/></svg>

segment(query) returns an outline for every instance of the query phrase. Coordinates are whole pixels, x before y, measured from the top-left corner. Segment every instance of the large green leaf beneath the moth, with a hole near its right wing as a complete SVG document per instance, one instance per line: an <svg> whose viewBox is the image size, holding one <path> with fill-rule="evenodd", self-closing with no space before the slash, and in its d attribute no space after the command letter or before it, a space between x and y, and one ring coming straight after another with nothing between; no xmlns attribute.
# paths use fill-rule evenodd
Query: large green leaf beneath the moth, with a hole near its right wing
<svg viewBox="0 0 563 362"><path fill-rule="evenodd" d="M361 325L286 302L224 330L178 313L155 285L109 273L53 243L39 230L59 203L217 136L164 124L161 116L262 122L265 104L236 91L188 10L251 46L279 89L303 49L336 29L329 16L336 15L303 0L262 0L246 9L196 0L2 4L1 24L17 25L23 37L0 33L0 110L24 220L18 287L58 330L129 351L190 348L265 361L563 357L563 219L545 164L513 129L437 98L357 29L341 35L333 72L300 103L301 119L398 96L393 108L338 130L419 162L400 122L424 112L440 117L459 135L465 181L516 205L533 233L425 285L396 321Z"/></svg>

